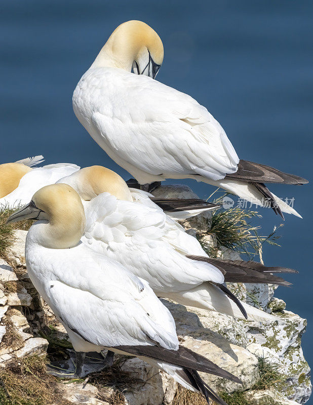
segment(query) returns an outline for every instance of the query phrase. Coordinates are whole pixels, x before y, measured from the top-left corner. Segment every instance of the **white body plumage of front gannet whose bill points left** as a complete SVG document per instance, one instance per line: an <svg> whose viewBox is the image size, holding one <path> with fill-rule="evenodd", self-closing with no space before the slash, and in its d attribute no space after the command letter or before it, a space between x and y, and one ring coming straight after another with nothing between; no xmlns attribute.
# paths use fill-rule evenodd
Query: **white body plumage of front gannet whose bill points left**
<svg viewBox="0 0 313 405"><path fill-rule="evenodd" d="M152 344L149 339L177 350L174 320L146 281L82 243L71 249L41 246L44 226L38 221L27 234L28 274L76 351Z"/></svg>

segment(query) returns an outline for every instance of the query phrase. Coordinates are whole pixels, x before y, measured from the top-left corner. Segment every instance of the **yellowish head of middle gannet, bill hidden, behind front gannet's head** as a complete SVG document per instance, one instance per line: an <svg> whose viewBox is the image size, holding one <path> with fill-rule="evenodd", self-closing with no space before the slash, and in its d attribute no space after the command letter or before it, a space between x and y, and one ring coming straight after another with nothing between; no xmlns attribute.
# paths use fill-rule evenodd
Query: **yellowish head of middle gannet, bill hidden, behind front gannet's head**
<svg viewBox="0 0 313 405"><path fill-rule="evenodd" d="M90 201L104 192L124 201L133 201L128 185L122 177L103 166L81 169L58 180L58 183L69 184L85 201Z"/></svg>

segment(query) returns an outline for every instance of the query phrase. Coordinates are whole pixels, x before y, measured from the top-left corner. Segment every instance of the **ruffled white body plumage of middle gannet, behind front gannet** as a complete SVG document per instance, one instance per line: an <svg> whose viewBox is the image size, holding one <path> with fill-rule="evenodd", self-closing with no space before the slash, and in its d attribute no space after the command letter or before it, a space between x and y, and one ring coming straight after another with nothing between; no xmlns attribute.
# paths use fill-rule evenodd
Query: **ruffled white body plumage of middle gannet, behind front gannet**
<svg viewBox="0 0 313 405"><path fill-rule="evenodd" d="M209 263L186 257L208 257L198 240L152 201L148 206L102 193L83 203L87 222L82 241L92 249L147 280L159 297L244 319L238 306L211 284L224 282L221 271ZM250 320L275 319L242 304Z"/></svg>

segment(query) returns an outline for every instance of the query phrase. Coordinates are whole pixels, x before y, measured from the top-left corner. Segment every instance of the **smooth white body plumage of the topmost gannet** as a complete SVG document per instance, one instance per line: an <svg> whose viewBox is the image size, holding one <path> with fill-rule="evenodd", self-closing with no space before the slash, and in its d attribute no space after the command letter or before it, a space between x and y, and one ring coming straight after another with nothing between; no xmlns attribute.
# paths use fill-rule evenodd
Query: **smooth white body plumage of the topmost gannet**
<svg viewBox="0 0 313 405"><path fill-rule="evenodd" d="M73 94L94 140L141 184L167 178L221 180L239 158L225 131L192 97L148 76L90 68Z"/></svg>

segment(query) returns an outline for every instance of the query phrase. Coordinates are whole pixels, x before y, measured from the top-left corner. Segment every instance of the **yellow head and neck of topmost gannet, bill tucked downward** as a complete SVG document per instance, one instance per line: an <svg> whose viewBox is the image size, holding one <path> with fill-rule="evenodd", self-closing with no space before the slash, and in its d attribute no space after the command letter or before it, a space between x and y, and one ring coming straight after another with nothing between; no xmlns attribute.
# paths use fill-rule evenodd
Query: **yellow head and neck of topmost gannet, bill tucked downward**
<svg viewBox="0 0 313 405"><path fill-rule="evenodd" d="M127 21L116 28L92 67L117 67L154 78L163 62L160 36L142 21Z"/></svg>

